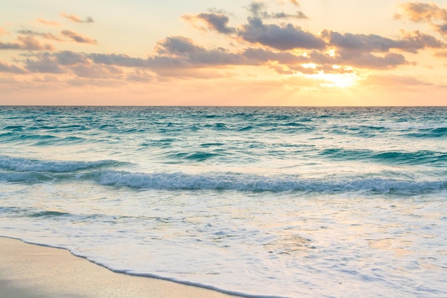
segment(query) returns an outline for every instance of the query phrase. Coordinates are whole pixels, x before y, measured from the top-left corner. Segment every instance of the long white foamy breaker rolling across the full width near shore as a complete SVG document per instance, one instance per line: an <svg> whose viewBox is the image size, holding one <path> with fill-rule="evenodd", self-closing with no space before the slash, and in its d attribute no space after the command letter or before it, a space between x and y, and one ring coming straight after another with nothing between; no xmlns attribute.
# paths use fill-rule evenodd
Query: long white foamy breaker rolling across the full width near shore
<svg viewBox="0 0 447 298"><path fill-rule="evenodd" d="M413 181L382 177L345 177L342 179L300 179L298 177L263 177L252 174L209 173L139 173L94 171L65 173L1 173L0 181L47 183L72 180L90 181L111 187L159 190L217 190L242 192L377 192L384 194L423 194L447 189L447 179Z"/></svg>

